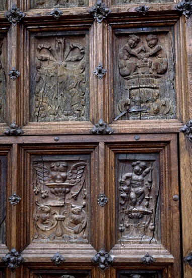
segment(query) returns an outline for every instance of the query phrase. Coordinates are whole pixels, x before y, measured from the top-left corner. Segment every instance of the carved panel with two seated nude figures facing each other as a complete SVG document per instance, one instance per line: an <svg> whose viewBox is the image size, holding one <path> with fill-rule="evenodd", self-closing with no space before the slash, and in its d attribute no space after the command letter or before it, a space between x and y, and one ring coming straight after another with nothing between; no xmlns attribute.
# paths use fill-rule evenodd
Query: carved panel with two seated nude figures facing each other
<svg viewBox="0 0 192 278"><path fill-rule="evenodd" d="M114 110L120 119L176 118L172 30L116 30Z"/></svg>

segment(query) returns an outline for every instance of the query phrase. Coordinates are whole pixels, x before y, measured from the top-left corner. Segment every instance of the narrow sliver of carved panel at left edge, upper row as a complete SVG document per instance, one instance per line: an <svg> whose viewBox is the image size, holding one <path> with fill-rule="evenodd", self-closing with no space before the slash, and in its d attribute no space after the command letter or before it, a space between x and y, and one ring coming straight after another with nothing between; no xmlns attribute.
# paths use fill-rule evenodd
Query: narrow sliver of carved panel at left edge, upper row
<svg viewBox="0 0 192 278"><path fill-rule="evenodd" d="M0 37L0 122L6 122L7 40Z"/></svg>

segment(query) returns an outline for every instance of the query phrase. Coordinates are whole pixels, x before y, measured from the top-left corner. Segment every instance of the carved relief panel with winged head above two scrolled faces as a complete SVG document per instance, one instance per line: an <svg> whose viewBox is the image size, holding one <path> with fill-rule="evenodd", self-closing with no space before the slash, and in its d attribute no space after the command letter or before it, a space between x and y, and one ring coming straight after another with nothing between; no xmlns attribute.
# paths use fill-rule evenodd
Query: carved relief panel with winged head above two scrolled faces
<svg viewBox="0 0 192 278"><path fill-rule="evenodd" d="M88 242L86 165L70 161L33 162L34 240Z"/></svg>

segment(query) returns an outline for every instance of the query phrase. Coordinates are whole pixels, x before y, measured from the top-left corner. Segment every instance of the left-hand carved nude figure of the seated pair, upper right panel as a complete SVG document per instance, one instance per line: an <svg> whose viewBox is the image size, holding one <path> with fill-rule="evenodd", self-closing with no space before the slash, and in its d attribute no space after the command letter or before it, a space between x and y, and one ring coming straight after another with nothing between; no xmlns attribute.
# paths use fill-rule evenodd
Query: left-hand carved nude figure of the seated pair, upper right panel
<svg viewBox="0 0 192 278"><path fill-rule="evenodd" d="M133 50L140 42L140 38L136 35L129 35L127 43L119 51L119 70L121 76L127 76L133 74L136 70L136 61L129 61L131 57L136 57L139 60L143 59L143 55L139 54L141 51L145 52L145 47Z"/></svg>

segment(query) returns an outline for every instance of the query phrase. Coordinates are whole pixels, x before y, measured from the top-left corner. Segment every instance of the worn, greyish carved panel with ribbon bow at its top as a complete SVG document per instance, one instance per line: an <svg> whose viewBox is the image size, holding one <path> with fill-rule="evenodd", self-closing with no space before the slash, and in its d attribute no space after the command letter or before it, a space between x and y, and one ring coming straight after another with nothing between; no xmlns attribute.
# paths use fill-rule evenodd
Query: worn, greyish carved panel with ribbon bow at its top
<svg viewBox="0 0 192 278"><path fill-rule="evenodd" d="M34 39L31 120L89 118L88 47L85 35ZM31 52L33 56L33 51Z"/></svg>

